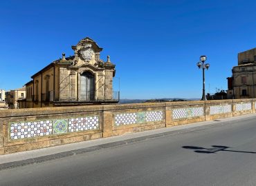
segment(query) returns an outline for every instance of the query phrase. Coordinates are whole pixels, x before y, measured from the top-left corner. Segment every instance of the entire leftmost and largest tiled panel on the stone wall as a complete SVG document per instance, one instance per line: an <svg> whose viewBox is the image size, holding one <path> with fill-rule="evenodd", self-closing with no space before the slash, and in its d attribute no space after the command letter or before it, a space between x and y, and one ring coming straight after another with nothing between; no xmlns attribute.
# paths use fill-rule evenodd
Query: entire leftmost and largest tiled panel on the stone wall
<svg viewBox="0 0 256 186"><path fill-rule="evenodd" d="M42 121L11 122L9 123L9 136L10 140L17 140L99 129L99 116L80 116Z"/></svg>

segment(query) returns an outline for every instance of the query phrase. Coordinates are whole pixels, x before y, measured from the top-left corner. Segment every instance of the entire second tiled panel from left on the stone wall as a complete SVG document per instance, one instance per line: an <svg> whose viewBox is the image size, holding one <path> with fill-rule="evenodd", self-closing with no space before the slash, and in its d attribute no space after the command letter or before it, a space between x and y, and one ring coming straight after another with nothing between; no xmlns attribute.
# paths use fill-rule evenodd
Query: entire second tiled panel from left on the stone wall
<svg viewBox="0 0 256 186"><path fill-rule="evenodd" d="M131 125L163 120L163 111L130 112L115 114L115 125Z"/></svg>

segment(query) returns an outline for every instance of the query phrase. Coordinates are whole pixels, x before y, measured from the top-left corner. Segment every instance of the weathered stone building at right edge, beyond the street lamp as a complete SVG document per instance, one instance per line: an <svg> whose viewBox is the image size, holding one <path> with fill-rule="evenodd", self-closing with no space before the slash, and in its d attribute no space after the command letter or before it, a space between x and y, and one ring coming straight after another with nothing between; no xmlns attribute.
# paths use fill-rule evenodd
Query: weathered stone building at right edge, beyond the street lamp
<svg viewBox="0 0 256 186"><path fill-rule="evenodd" d="M256 48L240 52L238 65L228 77L228 99L251 99L256 97Z"/></svg>

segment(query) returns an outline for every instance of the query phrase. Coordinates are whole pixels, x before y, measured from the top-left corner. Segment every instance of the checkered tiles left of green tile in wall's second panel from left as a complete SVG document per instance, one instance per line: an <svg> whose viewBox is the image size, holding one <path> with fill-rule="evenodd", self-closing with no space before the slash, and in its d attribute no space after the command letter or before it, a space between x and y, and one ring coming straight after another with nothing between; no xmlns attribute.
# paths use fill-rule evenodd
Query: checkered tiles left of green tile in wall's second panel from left
<svg viewBox="0 0 256 186"><path fill-rule="evenodd" d="M140 119L142 120L142 119ZM130 125L138 123L137 121L137 113L124 113L124 114L116 114L115 115L115 125Z"/></svg>

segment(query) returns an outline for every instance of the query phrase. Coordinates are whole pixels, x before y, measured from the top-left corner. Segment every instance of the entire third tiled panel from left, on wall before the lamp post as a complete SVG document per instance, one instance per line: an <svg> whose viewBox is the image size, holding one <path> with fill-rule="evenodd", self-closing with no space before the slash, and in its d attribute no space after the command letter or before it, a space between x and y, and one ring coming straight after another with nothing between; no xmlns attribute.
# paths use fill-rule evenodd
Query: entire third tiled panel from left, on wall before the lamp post
<svg viewBox="0 0 256 186"><path fill-rule="evenodd" d="M203 107L191 107L191 108L181 108L172 110L172 118L191 118L196 116L203 116Z"/></svg>

